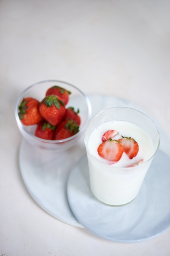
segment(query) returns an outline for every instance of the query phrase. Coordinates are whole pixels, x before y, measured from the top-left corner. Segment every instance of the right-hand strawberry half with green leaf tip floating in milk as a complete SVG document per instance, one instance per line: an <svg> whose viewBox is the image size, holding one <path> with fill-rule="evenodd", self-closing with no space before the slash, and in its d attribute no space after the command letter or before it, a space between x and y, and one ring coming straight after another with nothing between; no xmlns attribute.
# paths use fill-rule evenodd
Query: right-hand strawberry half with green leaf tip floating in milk
<svg viewBox="0 0 170 256"><path fill-rule="evenodd" d="M124 148L124 152L129 156L130 159L135 157L139 151L139 145L135 141L135 139L131 137L123 137L119 139L122 142L122 146Z"/></svg>

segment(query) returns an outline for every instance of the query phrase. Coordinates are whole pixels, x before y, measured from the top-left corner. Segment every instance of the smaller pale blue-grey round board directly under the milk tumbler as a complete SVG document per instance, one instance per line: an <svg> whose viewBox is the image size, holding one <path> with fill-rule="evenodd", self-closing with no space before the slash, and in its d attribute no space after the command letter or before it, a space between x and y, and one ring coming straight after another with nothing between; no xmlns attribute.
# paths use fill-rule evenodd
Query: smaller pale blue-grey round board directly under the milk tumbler
<svg viewBox="0 0 170 256"><path fill-rule="evenodd" d="M122 207L107 206L89 187L87 156L68 178L68 201L77 220L92 233L120 243L153 238L170 227L170 157L158 151L139 194Z"/></svg>

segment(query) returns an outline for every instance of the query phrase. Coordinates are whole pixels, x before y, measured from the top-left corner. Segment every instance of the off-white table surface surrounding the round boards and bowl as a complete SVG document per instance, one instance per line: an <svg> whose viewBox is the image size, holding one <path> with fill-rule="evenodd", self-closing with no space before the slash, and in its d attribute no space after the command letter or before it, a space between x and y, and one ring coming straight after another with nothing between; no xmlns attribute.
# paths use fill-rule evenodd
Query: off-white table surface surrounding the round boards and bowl
<svg viewBox="0 0 170 256"><path fill-rule="evenodd" d="M28 193L15 101L56 79L85 94L127 99L170 130L170 1L0 1L0 256L169 256L170 229L114 243L65 224Z"/></svg>

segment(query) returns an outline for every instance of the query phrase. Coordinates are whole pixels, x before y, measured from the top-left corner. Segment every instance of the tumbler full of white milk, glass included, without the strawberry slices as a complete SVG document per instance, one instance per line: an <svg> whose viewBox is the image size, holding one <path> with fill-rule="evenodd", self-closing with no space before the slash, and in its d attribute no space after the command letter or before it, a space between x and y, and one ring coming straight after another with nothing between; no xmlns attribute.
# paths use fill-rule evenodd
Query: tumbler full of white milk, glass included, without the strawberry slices
<svg viewBox="0 0 170 256"><path fill-rule="evenodd" d="M123 118L126 121L122 121ZM129 119L131 121L127 121ZM126 153L123 153L120 161L115 164L100 157L97 149L102 143L102 135L107 130L119 132L113 137L116 140L122 136L135 139L139 145L137 155L129 159ZM159 148L159 140L159 132L155 124L137 110L112 108L103 110L93 117L85 131L90 189L93 195L99 201L112 206L131 202L139 193L144 177ZM127 167L141 159L143 159L142 164Z"/></svg>

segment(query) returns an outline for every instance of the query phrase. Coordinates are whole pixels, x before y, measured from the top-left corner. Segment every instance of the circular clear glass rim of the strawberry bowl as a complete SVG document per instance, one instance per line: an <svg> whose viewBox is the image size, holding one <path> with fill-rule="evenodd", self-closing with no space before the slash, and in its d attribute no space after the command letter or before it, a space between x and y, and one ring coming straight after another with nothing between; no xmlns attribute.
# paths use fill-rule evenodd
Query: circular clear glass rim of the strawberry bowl
<svg viewBox="0 0 170 256"><path fill-rule="evenodd" d="M78 92L80 92L82 94L82 96L85 98L85 101L87 103L87 109L88 109L88 117L87 117L87 121L85 122L84 126L81 128L81 130L79 130L79 132L77 132L75 135L66 138L66 139L59 139L59 140L49 140L49 139L41 139L39 137L36 137L35 135L31 134L30 132L28 132L24 127L24 125L22 124L22 122L20 121L20 118L18 116L18 106L19 106L19 102L21 101L21 99L23 98L23 95L26 93L26 91L28 91L29 89L31 89L33 86L38 85L40 83L48 83L48 82L54 82L54 83L63 83L63 84L67 84L71 87L73 87L74 89L76 89ZM23 129L24 132L26 134L28 134L29 136L31 136L31 138L36 139L39 142L46 142L46 143L50 143L50 144L59 144L59 143L63 143L66 141L71 141L72 139L78 137L84 130L85 127L90 119L92 115L92 106L91 103L89 101L89 98L87 97L87 95L82 92L78 87L76 87L75 85L72 85L71 83L65 82L65 81L61 81L61 80L55 80L55 79L48 79L48 80L43 80L43 81L39 81L37 83L33 83L32 85L28 86L26 89L24 89L24 91L22 91L22 93L19 95L19 97L17 98L17 101L15 103L15 119L17 121L17 125L19 126L19 128Z"/></svg>

